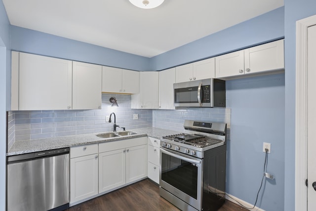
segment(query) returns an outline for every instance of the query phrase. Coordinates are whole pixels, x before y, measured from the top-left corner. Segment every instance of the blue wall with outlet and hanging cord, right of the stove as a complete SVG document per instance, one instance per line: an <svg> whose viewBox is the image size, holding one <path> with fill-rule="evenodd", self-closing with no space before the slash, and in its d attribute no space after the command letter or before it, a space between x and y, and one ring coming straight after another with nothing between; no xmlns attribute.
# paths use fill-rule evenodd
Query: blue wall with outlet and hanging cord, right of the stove
<svg viewBox="0 0 316 211"><path fill-rule="evenodd" d="M284 208L284 74L226 82L227 107L231 108L227 145L226 192L254 204L262 180L265 153L271 143L267 172L257 207Z"/></svg>

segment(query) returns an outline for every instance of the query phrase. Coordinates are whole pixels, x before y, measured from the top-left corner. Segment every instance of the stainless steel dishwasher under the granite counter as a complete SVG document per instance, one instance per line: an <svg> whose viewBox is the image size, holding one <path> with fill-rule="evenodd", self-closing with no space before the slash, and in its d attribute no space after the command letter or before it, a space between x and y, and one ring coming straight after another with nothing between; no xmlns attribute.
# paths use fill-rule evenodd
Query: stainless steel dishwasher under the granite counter
<svg viewBox="0 0 316 211"><path fill-rule="evenodd" d="M7 157L7 211L62 211L69 191L69 148Z"/></svg>

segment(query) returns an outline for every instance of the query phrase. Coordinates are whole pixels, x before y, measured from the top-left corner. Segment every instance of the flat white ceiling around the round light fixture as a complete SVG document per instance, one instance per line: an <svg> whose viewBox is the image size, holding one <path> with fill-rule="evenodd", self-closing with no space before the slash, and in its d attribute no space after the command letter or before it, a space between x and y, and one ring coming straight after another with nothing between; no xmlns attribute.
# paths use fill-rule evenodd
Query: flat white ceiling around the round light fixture
<svg viewBox="0 0 316 211"><path fill-rule="evenodd" d="M153 57L284 5L284 0L3 0L11 25Z"/></svg>

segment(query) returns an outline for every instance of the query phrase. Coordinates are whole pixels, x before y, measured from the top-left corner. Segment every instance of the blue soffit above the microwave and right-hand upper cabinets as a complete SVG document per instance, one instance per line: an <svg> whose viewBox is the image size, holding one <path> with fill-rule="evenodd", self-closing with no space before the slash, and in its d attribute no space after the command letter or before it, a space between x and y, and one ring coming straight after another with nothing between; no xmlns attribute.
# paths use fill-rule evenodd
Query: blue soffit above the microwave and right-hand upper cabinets
<svg viewBox="0 0 316 211"><path fill-rule="evenodd" d="M163 70L284 37L284 7L151 58Z"/></svg>

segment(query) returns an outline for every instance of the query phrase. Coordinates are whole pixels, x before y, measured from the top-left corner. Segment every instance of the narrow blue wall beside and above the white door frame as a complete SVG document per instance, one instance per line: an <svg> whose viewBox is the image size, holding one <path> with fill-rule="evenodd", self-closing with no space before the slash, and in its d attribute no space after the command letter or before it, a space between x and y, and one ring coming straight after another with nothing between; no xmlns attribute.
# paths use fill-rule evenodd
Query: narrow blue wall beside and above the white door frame
<svg viewBox="0 0 316 211"><path fill-rule="evenodd" d="M295 206L295 60L296 21L316 14L315 0L285 3L285 191L284 210Z"/></svg>

